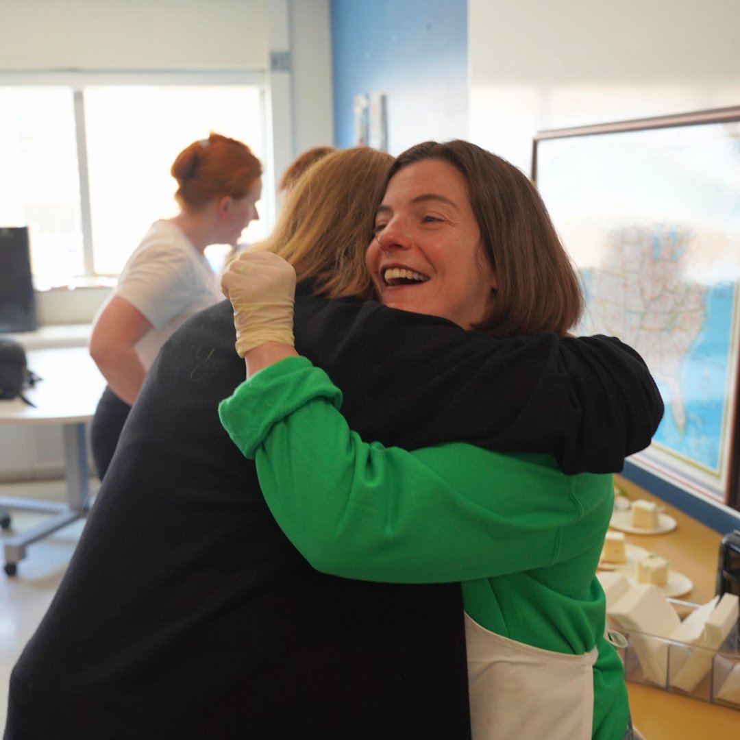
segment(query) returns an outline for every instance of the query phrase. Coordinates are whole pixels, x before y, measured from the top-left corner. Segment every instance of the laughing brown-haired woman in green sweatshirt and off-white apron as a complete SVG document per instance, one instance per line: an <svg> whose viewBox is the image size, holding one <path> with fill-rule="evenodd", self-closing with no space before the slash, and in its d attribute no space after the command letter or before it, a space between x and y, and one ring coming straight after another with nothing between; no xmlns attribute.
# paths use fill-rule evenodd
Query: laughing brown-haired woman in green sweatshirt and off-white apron
<svg viewBox="0 0 740 740"><path fill-rule="evenodd" d="M516 191L508 221L491 195L507 188ZM383 303L502 336L563 334L581 303L540 206L521 173L472 144L401 155L367 255ZM542 270L565 275L548 300L531 287L536 278L522 277ZM404 451L363 442L338 411L340 391L292 348L294 284L275 255L246 255L223 280L252 377L221 404L221 420L255 457L277 523L326 573L462 582L475 740L621 740L627 693L594 575L610 475L567 476L547 455L465 443Z"/></svg>

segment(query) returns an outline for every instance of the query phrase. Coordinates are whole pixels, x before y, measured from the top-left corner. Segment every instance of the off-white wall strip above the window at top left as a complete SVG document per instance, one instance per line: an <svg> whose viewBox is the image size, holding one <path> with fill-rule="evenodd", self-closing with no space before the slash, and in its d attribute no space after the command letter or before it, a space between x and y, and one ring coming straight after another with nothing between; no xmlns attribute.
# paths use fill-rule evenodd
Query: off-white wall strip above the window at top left
<svg viewBox="0 0 740 740"><path fill-rule="evenodd" d="M265 0L3 0L0 68L265 69Z"/></svg>

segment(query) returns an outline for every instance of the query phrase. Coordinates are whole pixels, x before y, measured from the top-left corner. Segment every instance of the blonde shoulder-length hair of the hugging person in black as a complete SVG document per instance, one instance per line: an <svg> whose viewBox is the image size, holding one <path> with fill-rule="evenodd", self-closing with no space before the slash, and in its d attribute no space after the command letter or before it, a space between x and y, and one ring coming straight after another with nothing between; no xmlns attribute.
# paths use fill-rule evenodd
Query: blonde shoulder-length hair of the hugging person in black
<svg viewBox="0 0 740 740"><path fill-rule="evenodd" d="M272 234L254 248L288 260L298 280L314 278L315 293L373 296L365 251L391 164L369 147L324 156L300 175Z"/></svg>

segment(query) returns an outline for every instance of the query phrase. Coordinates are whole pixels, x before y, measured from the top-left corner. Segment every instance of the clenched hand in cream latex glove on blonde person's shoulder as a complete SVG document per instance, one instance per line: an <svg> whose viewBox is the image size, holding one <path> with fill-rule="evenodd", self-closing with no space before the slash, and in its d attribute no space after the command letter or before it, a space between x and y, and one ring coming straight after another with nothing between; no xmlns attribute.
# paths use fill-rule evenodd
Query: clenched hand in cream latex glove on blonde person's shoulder
<svg viewBox="0 0 740 740"><path fill-rule="evenodd" d="M242 252L221 276L234 306L239 357L267 342L294 346L295 270L272 252Z"/></svg>

